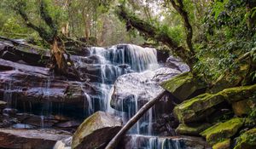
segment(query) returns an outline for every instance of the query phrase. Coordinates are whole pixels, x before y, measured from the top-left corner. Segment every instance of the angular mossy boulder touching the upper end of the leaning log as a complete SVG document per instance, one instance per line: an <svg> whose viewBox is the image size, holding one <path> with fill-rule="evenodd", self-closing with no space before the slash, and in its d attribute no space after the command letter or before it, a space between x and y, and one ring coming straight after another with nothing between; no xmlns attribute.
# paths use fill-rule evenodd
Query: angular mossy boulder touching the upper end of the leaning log
<svg viewBox="0 0 256 149"><path fill-rule="evenodd" d="M179 100L187 100L191 95L195 95L196 91L206 88L205 83L193 77L192 73L185 72L170 80L161 83L161 87L166 89Z"/></svg>

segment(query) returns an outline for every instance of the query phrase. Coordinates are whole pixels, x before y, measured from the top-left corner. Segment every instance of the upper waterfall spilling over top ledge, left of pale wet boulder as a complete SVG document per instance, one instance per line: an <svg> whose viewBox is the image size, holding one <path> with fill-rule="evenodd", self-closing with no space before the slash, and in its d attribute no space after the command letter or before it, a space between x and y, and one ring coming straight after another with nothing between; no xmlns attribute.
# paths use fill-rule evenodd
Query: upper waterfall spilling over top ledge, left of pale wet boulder
<svg viewBox="0 0 256 149"><path fill-rule="evenodd" d="M88 57L92 56L96 56L98 59L96 64L92 65L101 68L100 73L97 74L100 79L96 82L101 94L91 97L86 95L87 103L92 103L90 100L96 98L100 100L98 109L96 109L96 105L92 105L92 112L97 110L113 112L113 109L109 106L109 99L111 98L110 93L113 92L113 90L111 91L113 83L119 76L159 67L155 49L142 48L132 44L114 45L110 48L92 47ZM84 64L79 60L77 65L82 66ZM86 117L89 115L86 115Z"/></svg>

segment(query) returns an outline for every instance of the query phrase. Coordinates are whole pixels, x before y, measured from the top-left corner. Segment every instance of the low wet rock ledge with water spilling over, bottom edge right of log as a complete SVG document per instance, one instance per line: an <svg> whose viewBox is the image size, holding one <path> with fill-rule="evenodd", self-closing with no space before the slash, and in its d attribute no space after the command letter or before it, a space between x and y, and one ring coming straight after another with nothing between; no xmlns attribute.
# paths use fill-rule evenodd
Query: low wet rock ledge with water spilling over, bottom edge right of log
<svg viewBox="0 0 256 149"><path fill-rule="evenodd" d="M125 135L121 140L120 149L131 148L193 148L210 149L207 142L200 137L169 136L157 137L148 135Z"/></svg>

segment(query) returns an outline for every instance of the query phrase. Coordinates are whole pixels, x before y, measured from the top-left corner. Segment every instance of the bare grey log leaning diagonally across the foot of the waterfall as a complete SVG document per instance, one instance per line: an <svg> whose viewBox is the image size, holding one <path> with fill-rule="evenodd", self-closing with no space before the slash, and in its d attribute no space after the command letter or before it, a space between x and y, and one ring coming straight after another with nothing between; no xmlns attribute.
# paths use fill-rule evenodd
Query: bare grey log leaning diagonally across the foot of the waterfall
<svg viewBox="0 0 256 149"><path fill-rule="evenodd" d="M166 94L166 91L162 91L157 97L155 97L153 100L149 100L148 103L146 103L138 112L136 115L131 117L131 119L123 126L122 129L119 130L119 133L113 137L112 140L108 143L108 146L106 146L105 149L114 149L118 144L119 140L122 139L122 137L125 135L125 133L131 129L131 127L137 123L137 121L143 117L143 114L148 111L154 104L159 101L164 95Z"/></svg>

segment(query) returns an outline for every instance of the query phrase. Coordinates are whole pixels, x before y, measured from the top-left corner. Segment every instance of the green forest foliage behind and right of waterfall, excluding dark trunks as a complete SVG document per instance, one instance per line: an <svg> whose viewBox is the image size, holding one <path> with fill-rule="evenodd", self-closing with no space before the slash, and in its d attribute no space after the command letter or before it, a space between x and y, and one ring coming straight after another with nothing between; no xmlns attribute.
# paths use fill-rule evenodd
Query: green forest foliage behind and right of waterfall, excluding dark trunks
<svg viewBox="0 0 256 149"><path fill-rule="evenodd" d="M19 0L27 3L26 12L38 26L46 26L38 17L37 0ZM0 34L5 37L26 38L44 46L44 41L27 27L15 13L16 0L0 3ZM256 2L255 0L44 0L50 16L63 35L95 45L109 46L115 43L161 44L154 37L145 37L127 22L120 20L116 10L120 5L131 15L148 22L160 32L165 32L174 43L185 49L194 49L198 61L193 70L207 82L216 83L226 75L229 82L241 77L246 69L249 81L256 81ZM173 7L180 6L188 14L193 30L192 47L188 45L188 28L183 16ZM47 26L46 26L47 28ZM48 27L48 29L50 29ZM127 32L128 30L129 32ZM47 43L46 43L47 45ZM174 54L173 52L170 52ZM250 65L246 66L246 63ZM227 77L228 76L228 77ZM244 80L244 79L243 79ZM242 84L240 83L240 84Z"/></svg>

